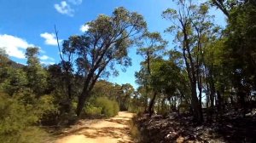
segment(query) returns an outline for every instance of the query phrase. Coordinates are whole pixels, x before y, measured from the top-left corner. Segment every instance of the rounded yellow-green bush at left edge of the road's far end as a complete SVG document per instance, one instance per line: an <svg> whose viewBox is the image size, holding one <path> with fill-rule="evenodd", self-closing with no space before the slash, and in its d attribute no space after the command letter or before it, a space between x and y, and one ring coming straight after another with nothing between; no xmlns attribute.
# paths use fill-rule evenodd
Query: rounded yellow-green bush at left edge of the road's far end
<svg viewBox="0 0 256 143"><path fill-rule="evenodd" d="M95 105L102 108L102 114L106 117L113 117L119 112L119 104L116 101L108 100L106 97L96 98Z"/></svg>

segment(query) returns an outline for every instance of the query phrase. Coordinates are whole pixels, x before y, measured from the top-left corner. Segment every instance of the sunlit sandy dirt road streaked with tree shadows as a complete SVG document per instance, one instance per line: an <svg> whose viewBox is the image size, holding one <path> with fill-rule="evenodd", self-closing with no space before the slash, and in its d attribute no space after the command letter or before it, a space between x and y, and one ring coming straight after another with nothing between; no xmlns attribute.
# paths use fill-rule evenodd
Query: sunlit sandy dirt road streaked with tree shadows
<svg viewBox="0 0 256 143"><path fill-rule="evenodd" d="M115 117L88 125L80 124L55 143L132 143L129 122L133 114L119 112Z"/></svg>

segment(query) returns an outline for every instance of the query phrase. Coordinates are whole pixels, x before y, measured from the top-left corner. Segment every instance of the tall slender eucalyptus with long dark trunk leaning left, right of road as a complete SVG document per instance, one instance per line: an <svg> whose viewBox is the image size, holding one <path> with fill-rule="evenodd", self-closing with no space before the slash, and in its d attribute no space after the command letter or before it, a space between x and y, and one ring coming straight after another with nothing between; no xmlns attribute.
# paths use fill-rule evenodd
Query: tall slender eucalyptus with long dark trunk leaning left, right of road
<svg viewBox="0 0 256 143"><path fill-rule="evenodd" d="M196 93L196 67L195 59L192 55L192 42L193 42L193 30L191 16L191 1L178 1L178 9L166 9L163 12L163 17L167 20L172 20L173 24L167 31L173 32L177 30L176 42L179 43L179 47L183 51L183 59L186 65L186 70L188 72L189 83L191 88L191 105L193 107L194 118L197 122L202 121L202 114L200 109L200 104L197 93Z"/></svg>

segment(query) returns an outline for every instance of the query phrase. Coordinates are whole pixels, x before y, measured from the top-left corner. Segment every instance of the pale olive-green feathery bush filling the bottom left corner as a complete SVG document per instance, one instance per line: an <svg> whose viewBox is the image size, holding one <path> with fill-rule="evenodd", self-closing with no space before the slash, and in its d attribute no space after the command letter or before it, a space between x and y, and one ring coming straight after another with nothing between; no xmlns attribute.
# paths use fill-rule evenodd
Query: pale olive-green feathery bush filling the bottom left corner
<svg viewBox="0 0 256 143"><path fill-rule="evenodd" d="M32 106L0 93L0 140L4 143L42 142L47 135L35 127L38 115Z"/></svg>

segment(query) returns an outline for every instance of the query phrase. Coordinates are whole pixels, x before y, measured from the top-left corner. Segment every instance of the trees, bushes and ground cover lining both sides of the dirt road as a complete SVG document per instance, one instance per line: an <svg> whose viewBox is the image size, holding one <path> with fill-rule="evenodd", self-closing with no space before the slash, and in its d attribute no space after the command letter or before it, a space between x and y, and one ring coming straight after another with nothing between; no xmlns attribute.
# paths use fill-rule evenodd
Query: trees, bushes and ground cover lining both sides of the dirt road
<svg viewBox="0 0 256 143"><path fill-rule="evenodd" d="M173 41L120 7L86 23L83 35L58 42L55 65L42 65L37 47L26 49L26 65L1 48L0 140L44 142L49 128L129 111L137 113L131 135L141 142L255 142L256 3L176 2L161 15ZM209 10L216 8L227 26L213 20ZM105 80L131 66L131 47L143 57L138 89Z"/></svg>

